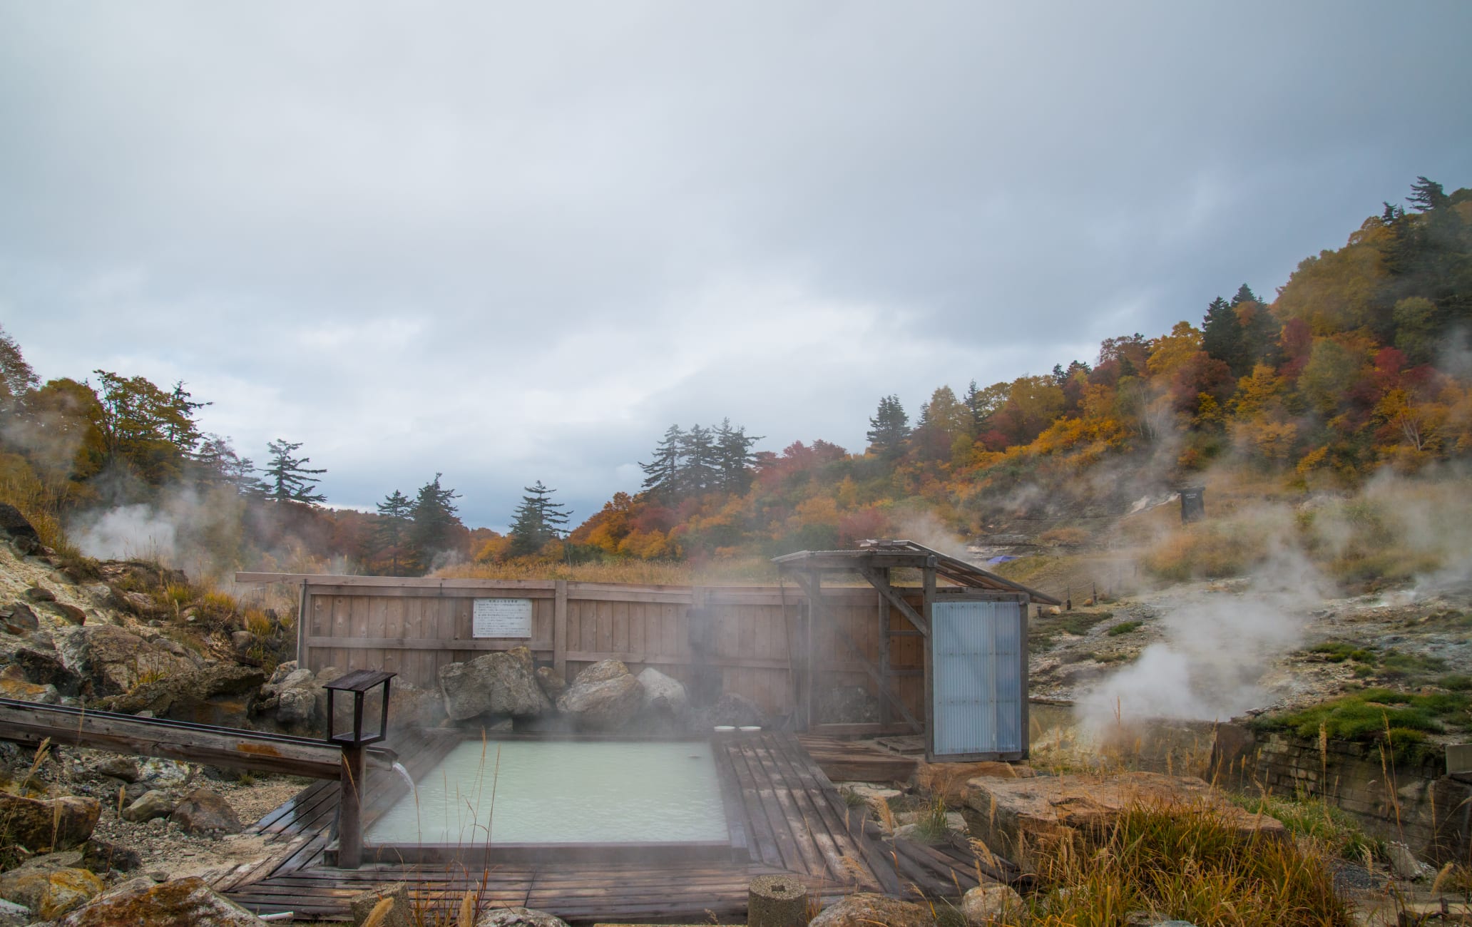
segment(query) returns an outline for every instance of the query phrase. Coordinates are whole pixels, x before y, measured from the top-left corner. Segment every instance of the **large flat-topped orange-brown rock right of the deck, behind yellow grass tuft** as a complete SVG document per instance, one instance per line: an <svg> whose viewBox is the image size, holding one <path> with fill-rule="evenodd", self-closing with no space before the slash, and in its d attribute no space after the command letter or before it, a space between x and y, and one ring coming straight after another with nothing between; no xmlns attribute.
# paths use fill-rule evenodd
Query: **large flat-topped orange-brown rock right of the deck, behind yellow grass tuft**
<svg viewBox="0 0 1472 927"><path fill-rule="evenodd" d="M1209 809L1244 842L1288 839L1276 818L1228 803L1203 780L1160 772L973 778L966 805L972 836L1025 868L1060 842L1103 837L1120 812L1138 805Z"/></svg>

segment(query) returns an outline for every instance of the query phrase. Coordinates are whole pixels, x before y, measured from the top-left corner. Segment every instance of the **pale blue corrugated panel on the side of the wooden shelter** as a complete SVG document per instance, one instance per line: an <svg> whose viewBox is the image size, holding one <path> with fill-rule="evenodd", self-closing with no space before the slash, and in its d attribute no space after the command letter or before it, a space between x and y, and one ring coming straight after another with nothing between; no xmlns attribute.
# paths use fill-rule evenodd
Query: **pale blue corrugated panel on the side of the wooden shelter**
<svg viewBox="0 0 1472 927"><path fill-rule="evenodd" d="M936 602L932 633L935 755L1022 753L1023 609L1019 602Z"/></svg>

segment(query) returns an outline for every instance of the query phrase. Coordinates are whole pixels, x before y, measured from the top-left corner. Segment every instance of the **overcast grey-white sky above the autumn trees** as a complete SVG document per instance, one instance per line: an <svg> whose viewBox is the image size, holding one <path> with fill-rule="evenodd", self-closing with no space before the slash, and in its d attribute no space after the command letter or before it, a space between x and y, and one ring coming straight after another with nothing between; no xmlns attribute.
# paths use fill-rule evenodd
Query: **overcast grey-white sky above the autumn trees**
<svg viewBox="0 0 1472 927"><path fill-rule="evenodd" d="M671 422L861 450L880 396L1272 296L1472 185L1472 3L0 0L0 324L183 380L371 506L574 522Z"/></svg>

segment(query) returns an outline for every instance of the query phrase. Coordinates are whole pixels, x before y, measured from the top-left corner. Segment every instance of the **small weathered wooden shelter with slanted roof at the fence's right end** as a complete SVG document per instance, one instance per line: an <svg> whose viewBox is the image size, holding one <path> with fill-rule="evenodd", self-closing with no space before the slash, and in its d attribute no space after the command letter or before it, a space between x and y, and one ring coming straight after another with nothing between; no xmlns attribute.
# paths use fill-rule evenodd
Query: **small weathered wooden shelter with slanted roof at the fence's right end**
<svg viewBox="0 0 1472 927"><path fill-rule="evenodd" d="M926 758L936 759L1020 759L1026 755L1026 702L1027 702L1027 650L1026 650L1026 621L1027 606L1033 602L1044 605L1061 605L1058 599L1014 583L994 572L967 564L954 556L941 553L910 540L871 540L864 541L858 550L801 550L773 559L782 575L792 575L802 586L807 599L807 619L802 622L802 640L799 650L799 665L793 670L796 680L796 714L795 727L821 733L826 725L814 714L815 693L821 672L818 643L820 630L829 622L826 608L829 596L823 590L824 575L857 574L868 581L879 592L879 609L876 624L879 625L877 661L871 659L854 636L843 627L835 625L835 637L845 650L861 664L866 674L877 689L880 700L879 728L886 731L894 725L898 715L902 727L926 737ZM892 571L916 569L920 572L920 587L898 587L892 583ZM942 586L941 581L946 584ZM1008 656L1008 678L1016 671L1011 689L1013 702L1020 711L1016 722L1020 730L1019 749L999 750L970 750L964 753L946 753L936 749L935 736L935 672L933 662L936 653L936 636L932 633L936 619L936 606L958 603L1008 603L1010 612L1020 624L1011 628L1008 636L1013 640ZM946 611L946 609L942 609ZM1016 622L1014 622L1016 624ZM974 627L974 622L973 622ZM954 634L951 636L954 637ZM896 642L919 639L921 658L920 680L923 697L920 712L914 711L914 703L896 695L898 680L913 677L914 667L896 668ZM995 647L994 647L995 649ZM911 649L913 652L913 649ZM954 656L963 656L952 653ZM972 661L969 674L972 689L976 687L974 677L985 675L988 667L976 667ZM964 683L963 683L964 686ZM970 697L974 693L958 696L958 700L976 702Z"/></svg>

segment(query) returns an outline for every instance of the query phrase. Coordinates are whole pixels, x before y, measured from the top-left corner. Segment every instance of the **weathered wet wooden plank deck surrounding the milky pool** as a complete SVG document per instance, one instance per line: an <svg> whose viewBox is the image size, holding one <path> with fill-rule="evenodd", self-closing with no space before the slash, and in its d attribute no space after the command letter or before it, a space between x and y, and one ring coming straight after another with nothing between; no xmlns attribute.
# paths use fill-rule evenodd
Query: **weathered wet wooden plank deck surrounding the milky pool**
<svg viewBox="0 0 1472 927"><path fill-rule="evenodd" d="M459 742L456 733L421 731L392 739L420 778ZM259 914L294 911L303 920L346 920L347 901L389 881L408 881L427 903L455 908L467 890L483 909L526 905L574 923L708 921L740 917L754 876L788 873L823 896L885 892L954 898L977 877L1013 880L1016 871L979 864L964 842L923 846L883 839L866 808L849 808L792 734L762 733L715 742L723 775L735 781L729 827L749 859L704 862L402 864L371 861L359 870L327 865L337 783L316 783L250 830L266 836L269 858L218 874L215 887ZM408 787L392 770L367 777L365 827Z"/></svg>

